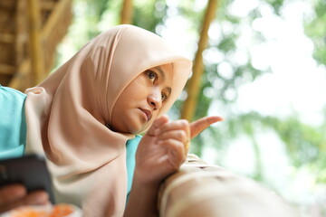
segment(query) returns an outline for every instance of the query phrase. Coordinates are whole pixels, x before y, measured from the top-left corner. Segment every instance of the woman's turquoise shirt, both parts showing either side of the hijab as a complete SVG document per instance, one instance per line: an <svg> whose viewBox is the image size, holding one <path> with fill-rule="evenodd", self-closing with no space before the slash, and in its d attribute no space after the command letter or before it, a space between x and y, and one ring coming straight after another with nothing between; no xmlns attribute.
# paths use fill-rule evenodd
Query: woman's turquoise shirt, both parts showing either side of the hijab
<svg viewBox="0 0 326 217"><path fill-rule="evenodd" d="M0 85L0 159L24 156L26 145L26 120L24 100L26 95L18 90ZM135 156L141 136L126 143L126 165L128 174L128 195L135 171Z"/></svg>

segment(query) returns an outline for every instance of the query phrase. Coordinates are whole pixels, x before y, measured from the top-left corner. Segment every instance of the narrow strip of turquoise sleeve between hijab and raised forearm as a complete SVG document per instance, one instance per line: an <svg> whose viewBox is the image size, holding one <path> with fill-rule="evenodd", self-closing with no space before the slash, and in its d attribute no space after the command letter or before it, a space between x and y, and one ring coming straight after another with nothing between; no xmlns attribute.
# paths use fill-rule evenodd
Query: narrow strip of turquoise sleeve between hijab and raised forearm
<svg viewBox="0 0 326 217"><path fill-rule="evenodd" d="M141 136L137 135L133 139L129 139L126 148L127 148L127 175L128 175L128 186L127 186L127 201L129 198L129 193L131 190L132 185L132 178L135 172L135 166L136 166L136 151L137 147L139 146L139 142L141 140Z"/></svg>

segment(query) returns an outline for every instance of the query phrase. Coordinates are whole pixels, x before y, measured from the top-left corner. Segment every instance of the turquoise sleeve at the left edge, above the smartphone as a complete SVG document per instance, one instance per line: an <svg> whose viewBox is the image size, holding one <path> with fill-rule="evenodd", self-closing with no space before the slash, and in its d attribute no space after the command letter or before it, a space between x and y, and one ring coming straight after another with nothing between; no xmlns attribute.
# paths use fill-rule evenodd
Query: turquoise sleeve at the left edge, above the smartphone
<svg viewBox="0 0 326 217"><path fill-rule="evenodd" d="M24 155L25 98L24 93L0 85L0 159Z"/></svg>

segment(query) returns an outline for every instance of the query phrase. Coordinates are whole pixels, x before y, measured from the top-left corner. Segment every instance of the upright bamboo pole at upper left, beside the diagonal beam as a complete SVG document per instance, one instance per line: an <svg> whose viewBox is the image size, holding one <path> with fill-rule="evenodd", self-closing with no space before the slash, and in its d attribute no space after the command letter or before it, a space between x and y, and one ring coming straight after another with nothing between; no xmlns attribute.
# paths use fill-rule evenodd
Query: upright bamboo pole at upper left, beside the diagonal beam
<svg viewBox="0 0 326 217"><path fill-rule="evenodd" d="M29 16L29 35L30 35L30 54L31 54L31 76L32 85L36 85L44 78L43 49L42 49L42 16L40 0L28 0Z"/></svg>

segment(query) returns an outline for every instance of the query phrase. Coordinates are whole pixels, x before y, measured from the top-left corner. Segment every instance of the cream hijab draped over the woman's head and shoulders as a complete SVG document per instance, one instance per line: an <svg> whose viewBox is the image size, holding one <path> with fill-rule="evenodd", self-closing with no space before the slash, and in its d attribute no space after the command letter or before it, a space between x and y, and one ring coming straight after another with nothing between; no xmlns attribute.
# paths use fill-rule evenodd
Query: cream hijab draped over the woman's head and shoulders
<svg viewBox="0 0 326 217"><path fill-rule="evenodd" d="M111 131L112 109L129 82L149 68L173 64L165 113L184 88L191 61L158 35L120 25L88 42L37 87L26 90L27 148L43 153L58 203L84 216L122 216L127 194L125 144Z"/></svg>

